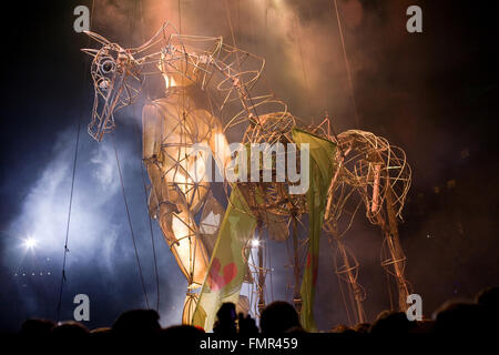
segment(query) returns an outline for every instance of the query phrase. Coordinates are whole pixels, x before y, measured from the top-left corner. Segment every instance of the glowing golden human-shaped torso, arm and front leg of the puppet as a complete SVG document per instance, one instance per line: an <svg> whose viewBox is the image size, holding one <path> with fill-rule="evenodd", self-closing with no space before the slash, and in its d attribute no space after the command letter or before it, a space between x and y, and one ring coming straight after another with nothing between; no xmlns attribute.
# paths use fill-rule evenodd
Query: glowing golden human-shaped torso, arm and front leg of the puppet
<svg viewBox="0 0 499 355"><path fill-rule="evenodd" d="M192 85L167 88L166 98L144 106L142 123L143 159L153 185L150 211L159 219L190 286L196 287L204 281L210 256L198 240L194 215L210 183L204 158L192 154L192 145L205 143L215 153L221 151L217 145L227 143L220 121L192 98Z"/></svg>

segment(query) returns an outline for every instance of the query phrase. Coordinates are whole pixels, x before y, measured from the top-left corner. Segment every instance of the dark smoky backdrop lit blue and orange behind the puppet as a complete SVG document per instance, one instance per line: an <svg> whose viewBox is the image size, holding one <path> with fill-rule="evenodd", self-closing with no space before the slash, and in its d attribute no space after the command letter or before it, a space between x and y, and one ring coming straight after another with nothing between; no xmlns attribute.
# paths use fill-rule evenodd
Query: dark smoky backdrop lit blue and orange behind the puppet
<svg viewBox="0 0 499 355"><path fill-rule="evenodd" d="M269 16L294 14L298 34L293 27L285 28L287 20L269 22L264 31L258 27L264 12L253 9L251 2L232 2L236 38L242 48L266 57L269 87L298 116L317 122L327 110L335 118L337 131L354 128L337 26L328 1L283 0L285 10L271 7ZM166 3L163 12L160 3ZM183 1L183 31L227 38L227 23L221 20L225 19L223 3ZM360 128L401 146L413 166L413 187L400 235L408 257L407 276L415 293L422 296L424 313L431 315L448 298L472 297L482 287L499 284L496 12L486 1L338 3ZM89 3L18 1L1 23L2 331L17 329L28 316L54 317L79 119L82 130L62 317L72 316L77 293L91 298L91 327L109 325L121 312L144 306L111 141L96 143L84 130L93 89L89 80L83 82L89 65L84 67L80 48L86 47L88 39L73 31L78 4ZM134 4L96 0L94 30L126 45L140 44L136 36L129 36L130 19L136 13L131 10ZM143 1L144 32L151 34L161 20L175 22L176 4ZM405 30L405 9L410 4L422 8L422 33ZM297 36L308 70L306 88L293 47ZM128 110L118 114L116 141L152 302L151 239L133 113ZM156 226L154 232L162 323L177 323L185 282ZM384 281L380 234L361 219L356 220L352 233L349 246L364 258L360 283L368 291L366 308L373 318L387 307L386 287L378 285ZM28 236L39 241L34 252L20 247ZM283 252L278 246L275 253L279 260ZM329 266L328 258L323 258L319 277L333 276ZM277 277L275 284L282 287L285 281ZM319 286L317 307L324 310L318 316L323 328L345 322L335 287Z"/></svg>

